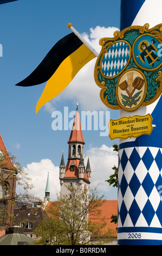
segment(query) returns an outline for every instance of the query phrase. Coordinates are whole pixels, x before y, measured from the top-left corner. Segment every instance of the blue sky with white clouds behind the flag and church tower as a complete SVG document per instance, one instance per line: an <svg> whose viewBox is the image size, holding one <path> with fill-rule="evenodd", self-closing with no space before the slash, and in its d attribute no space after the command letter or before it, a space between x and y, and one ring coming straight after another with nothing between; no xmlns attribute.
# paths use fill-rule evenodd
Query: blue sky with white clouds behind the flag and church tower
<svg viewBox="0 0 162 256"><path fill-rule="evenodd" d="M57 41L72 32L67 27L69 22L100 53L99 40L113 37L119 30L120 0L18 0L0 5L0 133L7 150L17 156L32 179L35 188L31 193L44 198L49 172L50 198L56 200L62 151L67 163L70 124L78 102L86 142L85 165L89 156L92 170L90 186L99 184L98 190L114 200L117 189L105 180L113 174L112 167L118 166L118 154L112 148L118 139L111 141L107 125L109 118L118 119L119 113L100 100L100 88L94 81L96 58L37 114L36 103L46 83L15 86L35 70ZM92 127L83 119L87 111L97 118L96 123L92 119Z"/></svg>

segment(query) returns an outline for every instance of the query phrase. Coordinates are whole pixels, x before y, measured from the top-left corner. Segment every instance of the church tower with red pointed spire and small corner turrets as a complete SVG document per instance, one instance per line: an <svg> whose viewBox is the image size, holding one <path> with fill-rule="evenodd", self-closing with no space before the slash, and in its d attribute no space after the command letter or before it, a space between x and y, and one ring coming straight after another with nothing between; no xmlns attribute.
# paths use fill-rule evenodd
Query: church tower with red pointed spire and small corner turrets
<svg viewBox="0 0 162 256"><path fill-rule="evenodd" d="M64 156L60 163L60 185L61 193L68 193L65 185L73 184L89 191L91 170L89 158L87 168L83 160L85 141L82 135L78 104L74 117L74 123L68 140L68 162L65 166Z"/></svg>

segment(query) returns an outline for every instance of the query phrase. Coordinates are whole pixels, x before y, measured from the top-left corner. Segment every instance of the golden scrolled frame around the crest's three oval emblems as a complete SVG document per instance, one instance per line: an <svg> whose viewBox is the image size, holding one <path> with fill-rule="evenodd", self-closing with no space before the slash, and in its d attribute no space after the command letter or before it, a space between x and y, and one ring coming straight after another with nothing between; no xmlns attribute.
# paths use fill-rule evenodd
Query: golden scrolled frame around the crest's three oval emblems
<svg viewBox="0 0 162 256"><path fill-rule="evenodd" d="M144 34L151 35L152 37L157 39L161 43L161 46L162 46L162 23L160 23L157 26L154 26L153 28L149 28L149 27L150 27L150 25L148 23L146 23L144 26L131 26L131 27L125 28L121 32L120 31L115 31L113 38L101 38L100 41L99 41L99 44L102 46L102 48L101 48L101 52L99 53L99 56L98 56L98 58L96 60L96 63L95 63L94 80L95 80L96 84L101 88L101 90L100 90L100 99L101 99L101 101L107 107L109 107L111 109L119 110L119 109L122 108L122 106L119 106L119 104L114 104L114 105L110 104L108 102L108 100L107 100L108 96L107 95L104 96L104 94L105 94L105 92L107 90L107 86L106 86L106 82L105 82L104 78L107 78L107 80L112 80L112 79L117 78L118 76L120 77L122 72L126 71L126 69L127 69L127 71L129 70L128 69L128 64L130 63L131 58L133 58L134 44L135 44L135 41L140 36L142 36ZM130 32L130 31L133 31L133 29L137 30L140 35L137 36L137 38L135 38L135 40L131 42L131 44L132 44L132 47L131 47L131 44L128 41L125 40L125 34ZM106 77L102 73L102 68L101 68L103 54L105 54L108 51L109 47L111 47L113 44L115 44L118 41L120 41L120 42L124 41L129 46L129 49L130 49L129 59L128 59L128 62L126 64L125 68L123 70L121 70L119 72L119 74L116 74L113 77ZM161 63L159 64L158 68L154 68L154 69L145 69L145 68L143 68L142 66L139 65L139 63L135 62L135 58L133 58L133 61L138 66L138 69L139 70L143 70L143 72L145 72L145 71L157 71L157 73L158 73L158 77L155 79L155 81L159 81L159 83L160 83L159 88L158 87L156 88L156 93L152 97L151 100L143 101L140 106L150 105L150 104L152 104L154 101L156 101L159 98L159 96L161 95L161 92L162 92L162 86L161 86L161 84L162 84L162 68L161 68L162 60L161 60ZM160 68L161 68L161 70L159 70ZM103 76L103 80L102 81L99 81L99 74L102 74L102 76ZM118 80L119 80L119 78L118 78ZM146 86L147 86L147 84L146 84ZM115 93L116 93L116 88L115 88ZM137 108L135 108L135 109L137 109ZM124 110L126 110L126 111L134 111L134 110L131 110L131 109L124 109Z"/></svg>

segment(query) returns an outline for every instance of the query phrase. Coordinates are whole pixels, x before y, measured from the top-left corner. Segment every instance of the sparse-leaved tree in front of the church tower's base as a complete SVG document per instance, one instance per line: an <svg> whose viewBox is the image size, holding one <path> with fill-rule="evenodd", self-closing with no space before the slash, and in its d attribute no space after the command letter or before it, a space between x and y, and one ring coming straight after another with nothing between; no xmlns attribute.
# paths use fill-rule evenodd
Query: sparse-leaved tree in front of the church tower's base
<svg viewBox="0 0 162 256"><path fill-rule="evenodd" d="M97 188L86 191L67 185L69 194L57 194L57 202L50 202L46 212L50 216L35 229L42 239L35 244L50 245L101 245L112 240L115 230L106 227L101 217L105 196L99 196ZM88 217L90 216L90 218Z"/></svg>

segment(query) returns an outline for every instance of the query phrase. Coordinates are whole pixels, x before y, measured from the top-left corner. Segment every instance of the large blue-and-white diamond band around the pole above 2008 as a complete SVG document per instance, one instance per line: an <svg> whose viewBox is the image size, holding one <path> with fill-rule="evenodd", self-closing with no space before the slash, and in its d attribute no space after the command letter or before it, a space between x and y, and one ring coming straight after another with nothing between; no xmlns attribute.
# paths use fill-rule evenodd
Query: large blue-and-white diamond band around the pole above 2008
<svg viewBox="0 0 162 256"><path fill-rule="evenodd" d="M161 167L162 149L119 150L118 228L162 227Z"/></svg>

